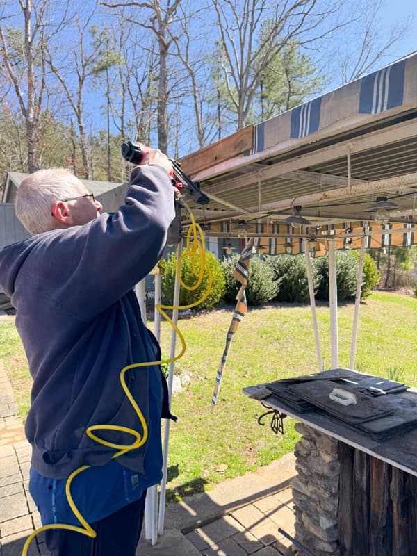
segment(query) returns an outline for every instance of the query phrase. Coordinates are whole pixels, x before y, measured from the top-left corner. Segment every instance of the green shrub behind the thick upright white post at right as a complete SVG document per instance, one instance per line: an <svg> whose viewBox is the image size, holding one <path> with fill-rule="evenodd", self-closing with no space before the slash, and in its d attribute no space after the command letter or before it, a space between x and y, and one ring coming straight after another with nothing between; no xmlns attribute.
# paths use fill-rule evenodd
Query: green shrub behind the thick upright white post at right
<svg viewBox="0 0 417 556"><path fill-rule="evenodd" d="M314 259L316 271L322 276L318 286L317 299L329 300L329 256L321 256ZM354 299L357 288L359 261L354 252L338 251L336 253L336 280L337 299L343 301Z"/></svg>

